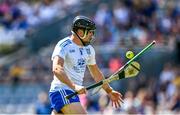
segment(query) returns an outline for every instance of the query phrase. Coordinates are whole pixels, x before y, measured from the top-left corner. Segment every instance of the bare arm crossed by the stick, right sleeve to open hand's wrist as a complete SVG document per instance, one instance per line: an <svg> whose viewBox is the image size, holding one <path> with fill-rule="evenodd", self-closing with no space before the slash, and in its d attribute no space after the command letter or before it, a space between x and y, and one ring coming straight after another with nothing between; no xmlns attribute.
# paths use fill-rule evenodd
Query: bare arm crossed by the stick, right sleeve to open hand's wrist
<svg viewBox="0 0 180 115"><path fill-rule="evenodd" d="M91 76L93 77L93 79L96 82L99 82L101 80L104 79L104 75L102 74L102 72L100 71L99 67L97 66L97 64L95 65L89 65L88 66ZM110 87L110 85L108 83L103 84L103 89L107 92L110 93L112 91L112 88Z"/></svg>

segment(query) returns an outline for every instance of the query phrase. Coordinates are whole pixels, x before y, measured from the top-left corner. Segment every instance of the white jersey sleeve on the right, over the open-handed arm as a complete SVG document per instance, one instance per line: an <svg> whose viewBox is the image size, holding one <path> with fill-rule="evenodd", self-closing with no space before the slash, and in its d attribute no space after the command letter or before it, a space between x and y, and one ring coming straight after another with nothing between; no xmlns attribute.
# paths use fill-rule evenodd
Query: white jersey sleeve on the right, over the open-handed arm
<svg viewBox="0 0 180 115"><path fill-rule="evenodd" d="M87 61L87 65L96 64L95 50L92 46L90 46L90 58Z"/></svg>

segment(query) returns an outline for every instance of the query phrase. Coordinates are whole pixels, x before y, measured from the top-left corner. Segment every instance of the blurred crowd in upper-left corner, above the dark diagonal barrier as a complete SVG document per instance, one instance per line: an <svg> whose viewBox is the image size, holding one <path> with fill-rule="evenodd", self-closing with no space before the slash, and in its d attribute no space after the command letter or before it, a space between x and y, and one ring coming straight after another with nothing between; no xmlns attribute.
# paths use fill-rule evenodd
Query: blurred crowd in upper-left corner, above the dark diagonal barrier
<svg viewBox="0 0 180 115"><path fill-rule="evenodd" d="M31 28L62 18L80 4L80 0L1 0L0 44L17 44ZM75 7L76 6L76 7Z"/></svg>

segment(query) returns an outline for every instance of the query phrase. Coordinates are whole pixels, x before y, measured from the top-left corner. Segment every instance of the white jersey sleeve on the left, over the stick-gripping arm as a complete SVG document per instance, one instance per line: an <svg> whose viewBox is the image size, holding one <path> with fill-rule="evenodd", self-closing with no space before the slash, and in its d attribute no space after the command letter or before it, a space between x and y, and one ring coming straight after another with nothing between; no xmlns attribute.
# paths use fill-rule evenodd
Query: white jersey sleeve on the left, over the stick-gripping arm
<svg viewBox="0 0 180 115"><path fill-rule="evenodd" d="M62 47L59 43L55 46L51 60L54 59L55 56L59 56L63 59L65 59L65 50L64 47Z"/></svg>

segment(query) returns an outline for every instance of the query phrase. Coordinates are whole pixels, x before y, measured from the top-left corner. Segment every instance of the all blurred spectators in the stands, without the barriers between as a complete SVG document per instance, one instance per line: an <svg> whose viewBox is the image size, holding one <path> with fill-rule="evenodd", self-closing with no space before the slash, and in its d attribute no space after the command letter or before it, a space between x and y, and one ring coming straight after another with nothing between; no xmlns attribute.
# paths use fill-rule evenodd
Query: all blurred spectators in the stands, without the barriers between
<svg viewBox="0 0 180 115"><path fill-rule="evenodd" d="M69 9L78 7L79 1L1 0L0 43L18 43L24 39L29 28L65 16L71 12ZM103 55L104 49L110 50L109 46L104 45L128 48L134 45L144 46L147 42L156 40L158 45L169 46L168 51L174 50L175 43L180 37L179 0L113 0L110 3L101 3L92 15L97 24L97 39L94 44L103 44L103 50L97 49L97 63L106 74L117 70L126 60L119 59L117 52ZM50 57L53 48L54 46L50 46L35 55L27 54L23 59L9 65L0 65L0 83L12 83L13 86L22 82L50 85L52 80ZM111 107L103 91L94 96L81 95L81 102L90 113L178 114L180 66L167 61L159 70L158 76L147 77L144 74L129 79L123 92L124 103L120 109ZM91 77L88 74L86 77L91 84L93 82ZM121 83L112 86L122 91ZM40 93L38 99L36 113L48 113L47 92Z"/></svg>

